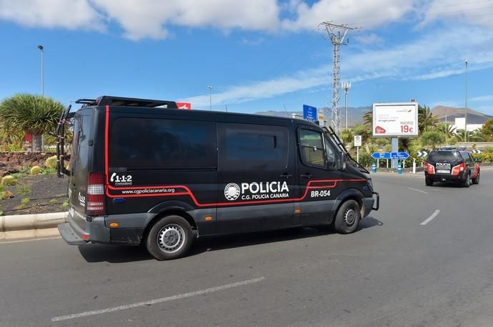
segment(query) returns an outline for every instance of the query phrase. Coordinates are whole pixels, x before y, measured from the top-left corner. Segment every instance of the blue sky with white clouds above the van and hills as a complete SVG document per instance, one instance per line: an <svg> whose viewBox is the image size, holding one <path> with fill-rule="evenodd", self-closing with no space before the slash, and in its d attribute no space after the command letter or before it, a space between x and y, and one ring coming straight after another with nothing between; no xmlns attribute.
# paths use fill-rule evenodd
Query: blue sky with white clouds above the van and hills
<svg viewBox="0 0 493 327"><path fill-rule="evenodd" d="M349 106L407 102L493 115L493 0L0 0L0 99L117 95L254 113L325 107L332 43ZM209 98L209 88L212 86ZM340 93L344 105L344 93ZM210 101L210 102L209 102ZM329 104L329 106L331 106Z"/></svg>

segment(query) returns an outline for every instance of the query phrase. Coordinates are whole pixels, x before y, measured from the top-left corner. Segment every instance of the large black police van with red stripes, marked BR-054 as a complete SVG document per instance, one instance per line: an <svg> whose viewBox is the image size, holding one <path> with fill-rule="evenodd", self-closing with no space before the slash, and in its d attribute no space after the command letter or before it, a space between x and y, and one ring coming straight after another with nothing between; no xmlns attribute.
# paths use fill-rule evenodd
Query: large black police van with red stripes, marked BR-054
<svg viewBox="0 0 493 327"><path fill-rule="evenodd" d="M351 233L379 207L367 170L314 123L179 110L163 100L77 103L56 133L70 204L59 232L69 244L143 243L156 259L174 259L195 237L317 224Z"/></svg>

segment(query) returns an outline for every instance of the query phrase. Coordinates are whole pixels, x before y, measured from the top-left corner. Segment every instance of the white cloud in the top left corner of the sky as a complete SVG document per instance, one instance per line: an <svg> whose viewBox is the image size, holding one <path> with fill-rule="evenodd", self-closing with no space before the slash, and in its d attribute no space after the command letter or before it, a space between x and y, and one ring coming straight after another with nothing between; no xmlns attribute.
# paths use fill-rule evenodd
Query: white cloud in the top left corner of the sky
<svg viewBox="0 0 493 327"><path fill-rule="evenodd" d="M103 30L86 0L0 0L0 19L29 27Z"/></svg>

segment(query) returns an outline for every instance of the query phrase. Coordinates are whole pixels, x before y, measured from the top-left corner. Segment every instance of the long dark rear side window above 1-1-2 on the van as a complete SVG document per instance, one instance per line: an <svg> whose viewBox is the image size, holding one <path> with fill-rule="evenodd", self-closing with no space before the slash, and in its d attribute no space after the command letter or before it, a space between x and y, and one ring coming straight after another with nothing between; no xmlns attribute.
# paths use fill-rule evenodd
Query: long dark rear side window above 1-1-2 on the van
<svg viewBox="0 0 493 327"><path fill-rule="evenodd" d="M109 128L109 165L130 169L215 169L216 124L116 118Z"/></svg>

